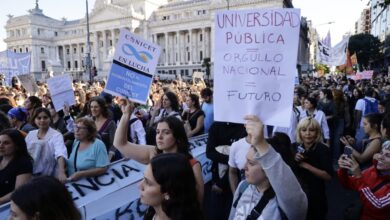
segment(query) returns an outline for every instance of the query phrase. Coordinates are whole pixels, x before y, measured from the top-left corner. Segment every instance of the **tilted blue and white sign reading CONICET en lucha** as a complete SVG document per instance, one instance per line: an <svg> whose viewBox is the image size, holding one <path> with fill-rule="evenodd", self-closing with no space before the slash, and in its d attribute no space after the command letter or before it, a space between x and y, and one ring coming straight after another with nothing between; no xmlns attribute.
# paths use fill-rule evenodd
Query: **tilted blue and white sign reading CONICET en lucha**
<svg viewBox="0 0 390 220"><path fill-rule="evenodd" d="M121 29L105 91L145 104L160 47Z"/></svg>

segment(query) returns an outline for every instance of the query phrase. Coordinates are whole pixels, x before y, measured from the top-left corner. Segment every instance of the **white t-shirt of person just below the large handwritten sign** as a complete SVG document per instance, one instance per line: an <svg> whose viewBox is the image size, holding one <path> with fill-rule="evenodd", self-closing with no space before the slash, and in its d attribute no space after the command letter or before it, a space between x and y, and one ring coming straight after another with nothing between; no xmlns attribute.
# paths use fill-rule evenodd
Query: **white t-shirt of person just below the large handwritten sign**
<svg viewBox="0 0 390 220"><path fill-rule="evenodd" d="M251 145L246 142L246 138L234 142L230 147L229 153L229 166L237 168L239 170L244 169L246 163L246 154L249 151Z"/></svg>

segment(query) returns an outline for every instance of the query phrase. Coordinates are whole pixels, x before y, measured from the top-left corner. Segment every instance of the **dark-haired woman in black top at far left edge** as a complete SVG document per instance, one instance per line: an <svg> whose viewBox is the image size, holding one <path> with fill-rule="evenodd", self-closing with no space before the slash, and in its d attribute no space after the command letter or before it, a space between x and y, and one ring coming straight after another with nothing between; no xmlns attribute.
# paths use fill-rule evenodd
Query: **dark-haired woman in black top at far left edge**
<svg viewBox="0 0 390 220"><path fill-rule="evenodd" d="M0 205L9 202L12 192L31 179L32 169L23 135L16 129L0 132Z"/></svg>

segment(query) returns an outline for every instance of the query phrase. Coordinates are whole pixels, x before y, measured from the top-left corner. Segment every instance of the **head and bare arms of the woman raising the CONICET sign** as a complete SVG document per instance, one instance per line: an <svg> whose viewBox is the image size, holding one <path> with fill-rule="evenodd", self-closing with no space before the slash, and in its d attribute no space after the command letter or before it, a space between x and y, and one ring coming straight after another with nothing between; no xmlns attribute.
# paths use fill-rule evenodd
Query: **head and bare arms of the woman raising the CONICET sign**
<svg viewBox="0 0 390 220"><path fill-rule="evenodd" d="M123 115L118 124L114 138L114 146L126 158L134 159L140 163L148 164L157 154L180 153L183 154L194 171L198 201L203 201L203 176L199 162L192 157L189 150L189 142L181 120L176 117L161 119L156 129L156 146L139 145L127 141L128 123L134 106L128 100L122 100Z"/></svg>

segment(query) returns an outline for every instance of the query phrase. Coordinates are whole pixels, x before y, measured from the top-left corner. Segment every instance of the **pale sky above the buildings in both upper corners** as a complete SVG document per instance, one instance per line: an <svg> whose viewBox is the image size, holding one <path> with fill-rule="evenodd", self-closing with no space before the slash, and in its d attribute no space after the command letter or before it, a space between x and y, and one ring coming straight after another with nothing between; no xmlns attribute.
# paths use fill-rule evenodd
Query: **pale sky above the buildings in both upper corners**
<svg viewBox="0 0 390 220"><path fill-rule="evenodd" d="M27 10L35 7L36 0L0 0L0 51L6 49L3 39L6 38L4 26L7 15L26 15ZM332 45L341 41L344 33L353 33L355 22L361 11L368 7L369 0L293 0L295 8L301 9L301 15L313 22L320 37L325 37L330 30ZM89 11L95 0L88 0ZM85 16L85 0L39 0L39 7L46 16L68 20L80 19ZM333 24L324 24L334 22Z"/></svg>

